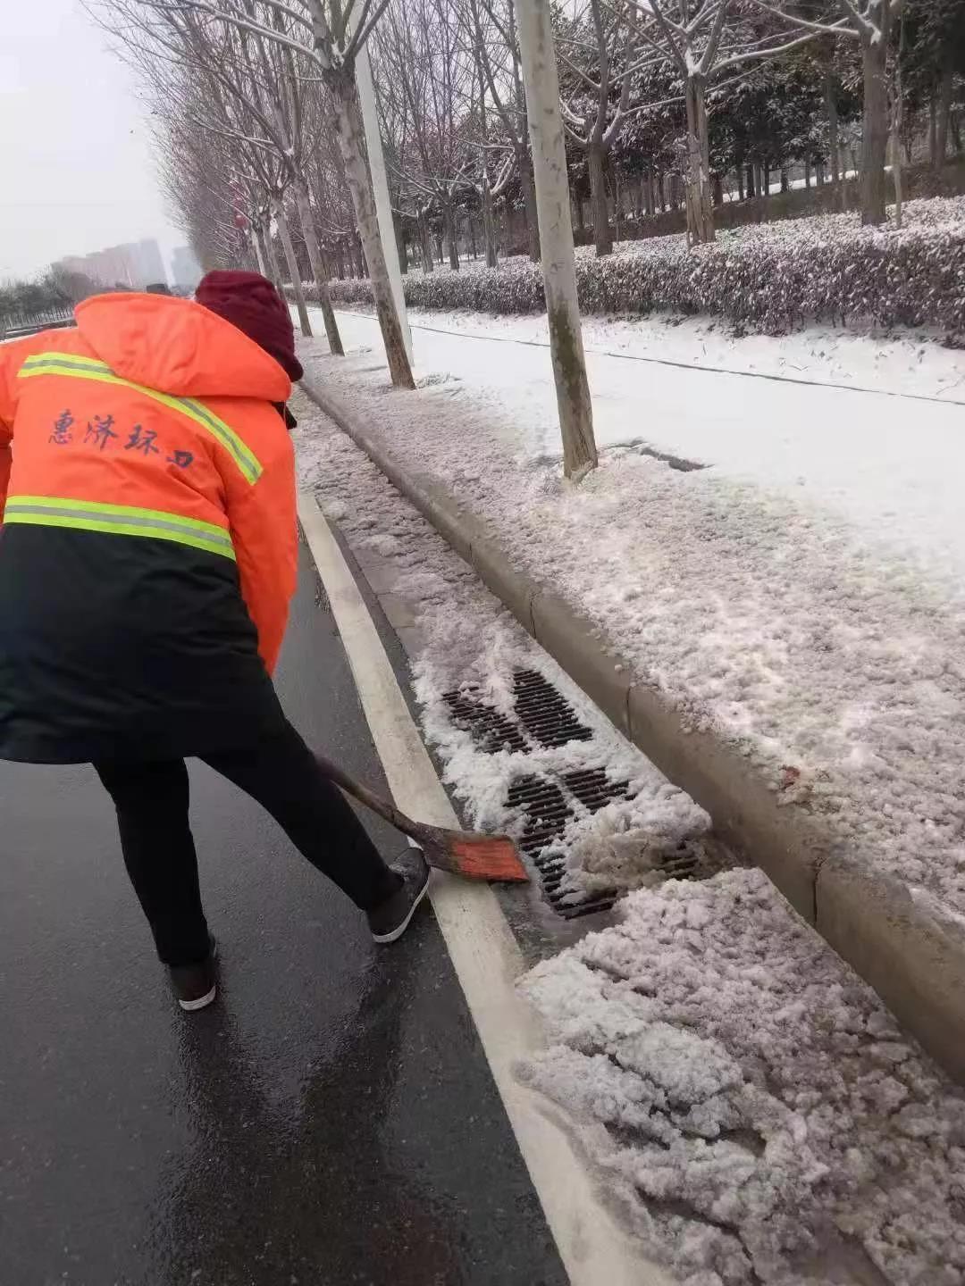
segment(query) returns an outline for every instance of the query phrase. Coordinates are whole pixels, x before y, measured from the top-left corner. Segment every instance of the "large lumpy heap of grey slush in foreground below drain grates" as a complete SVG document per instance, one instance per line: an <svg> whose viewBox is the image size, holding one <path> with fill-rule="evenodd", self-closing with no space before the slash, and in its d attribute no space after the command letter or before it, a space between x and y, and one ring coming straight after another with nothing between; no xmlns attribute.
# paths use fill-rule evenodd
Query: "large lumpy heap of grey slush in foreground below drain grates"
<svg viewBox="0 0 965 1286"><path fill-rule="evenodd" d="M681 1281L960 1286L965 1101L870 988L757 871L621 907L524 980L524 1074Z"/></svg>

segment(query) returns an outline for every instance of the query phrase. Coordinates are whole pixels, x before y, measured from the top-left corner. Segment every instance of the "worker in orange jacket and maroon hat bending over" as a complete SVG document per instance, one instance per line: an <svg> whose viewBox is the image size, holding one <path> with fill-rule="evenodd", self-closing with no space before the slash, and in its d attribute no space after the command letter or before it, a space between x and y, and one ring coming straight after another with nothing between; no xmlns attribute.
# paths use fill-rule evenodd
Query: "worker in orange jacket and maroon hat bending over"
<svg viewBox="0 0 965 1286"><path fill-rule="evenodd" d="M399 937L426 891L387 867L270 674L295 590L288 309L255 273L197 301L104 294L0 345L0 759L93 763L185 1010L216 994L185 756L262 804Z"/></svg>

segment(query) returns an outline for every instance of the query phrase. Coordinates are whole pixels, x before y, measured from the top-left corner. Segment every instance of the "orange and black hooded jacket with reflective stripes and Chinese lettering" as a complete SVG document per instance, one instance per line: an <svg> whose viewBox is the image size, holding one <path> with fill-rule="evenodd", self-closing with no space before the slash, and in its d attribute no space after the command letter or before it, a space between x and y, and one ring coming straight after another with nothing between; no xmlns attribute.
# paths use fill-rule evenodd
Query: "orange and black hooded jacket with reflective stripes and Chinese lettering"
<svg viewBox="0 0 965 1286"><path fill-rule="evenodd" d="M194 754L206 721L230 721L229 683L257 685L251 661L270 673L284 634L291 382L187 300L106 294L76 316L0 345L0 756L94 757L112 718L118 746L139 724L158 738L148 754ZM179 701L187 737L158 714Z"/></svg>

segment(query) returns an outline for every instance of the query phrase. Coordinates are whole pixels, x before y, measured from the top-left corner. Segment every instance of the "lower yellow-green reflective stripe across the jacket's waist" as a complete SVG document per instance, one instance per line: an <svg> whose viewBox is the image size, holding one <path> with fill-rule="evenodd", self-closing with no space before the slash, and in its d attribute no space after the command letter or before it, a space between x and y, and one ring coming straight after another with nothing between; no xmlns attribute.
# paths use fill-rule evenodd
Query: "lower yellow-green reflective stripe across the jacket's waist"
<svg viewBox="0 0 965 1286"><path fill-rule="evenodd" d="M116 536L153 536L172 540L234 561L232 534L214 522L184 518L162 509L135 509L126 504L98 504L50 495L8 496L4 523L35 527L73 527L106 531Z"/></svg>

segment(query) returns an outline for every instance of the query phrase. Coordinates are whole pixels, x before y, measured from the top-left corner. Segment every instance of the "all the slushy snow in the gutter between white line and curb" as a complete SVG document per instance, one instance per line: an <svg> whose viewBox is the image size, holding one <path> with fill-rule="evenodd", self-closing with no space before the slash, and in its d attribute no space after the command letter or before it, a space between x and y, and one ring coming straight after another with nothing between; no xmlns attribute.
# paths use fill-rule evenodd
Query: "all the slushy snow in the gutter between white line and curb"
<svg viewBox="0 0 965 1286"><path fill-rule="evenodd" d="M623 833L636 813L641 849L627 883L650 871L647 828L699 837L700 810L606 730L374 466L306 410L304 484L360 557L392 563L394 592L417 606L423 727L473 817L502 823L520 765L475 748L443 694L475 684L501 706L522 661L597 732L596 761L641 783L623 805ZM580 751L567 747L570 765ZM578 865L606 860L607 842L585 824L567 837ZM759 872L639 889L620 908L615 927L524 977L548 1042L520 1075L573 1115L647 1254L686 1286L965 1281L965 1102L874 993Z"/></svg>

